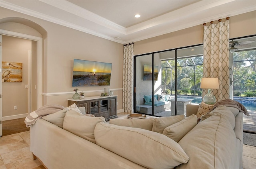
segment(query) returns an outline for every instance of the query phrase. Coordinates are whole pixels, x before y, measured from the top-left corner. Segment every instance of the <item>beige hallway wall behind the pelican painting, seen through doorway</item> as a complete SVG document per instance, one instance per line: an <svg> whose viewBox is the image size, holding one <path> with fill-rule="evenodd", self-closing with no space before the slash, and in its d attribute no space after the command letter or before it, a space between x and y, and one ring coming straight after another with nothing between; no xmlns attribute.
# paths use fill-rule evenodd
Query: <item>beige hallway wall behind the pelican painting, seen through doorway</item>
<svg viewBox="0 0 256 169"><path fill-rule="evenodd" d="M28 51L31 40L2 36L2 61L22 63L22 82L2 82L3 117L28 113Z"/></svg>

